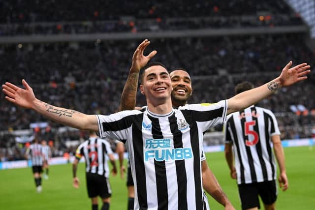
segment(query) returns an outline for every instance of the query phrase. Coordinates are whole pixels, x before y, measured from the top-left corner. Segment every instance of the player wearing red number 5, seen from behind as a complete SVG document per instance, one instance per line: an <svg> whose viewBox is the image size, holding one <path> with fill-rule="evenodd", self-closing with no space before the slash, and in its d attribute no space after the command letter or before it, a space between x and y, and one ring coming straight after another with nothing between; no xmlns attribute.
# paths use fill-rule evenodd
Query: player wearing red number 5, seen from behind
<svg viewBox="0 0 315 210"><path fill-rule="evenodd" d="M243 82L236 86L235 93L252 88L251 83ZM224 133L225 158L232 179L237 179L242 209L260 209L259 195L265 209L274 210L277 199L277 166L271 144L280 168L280 187L284 191L288 187L284 150L274 114L270 110L252 105L227 116Z"/></svg>

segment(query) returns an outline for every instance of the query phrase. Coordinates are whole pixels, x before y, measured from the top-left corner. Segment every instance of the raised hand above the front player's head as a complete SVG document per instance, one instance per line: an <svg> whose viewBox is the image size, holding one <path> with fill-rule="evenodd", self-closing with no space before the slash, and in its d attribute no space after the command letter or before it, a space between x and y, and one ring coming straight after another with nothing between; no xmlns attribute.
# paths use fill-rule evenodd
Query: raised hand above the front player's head
<svg viewBox="0 0 315 210"><path fill-rule="evenodd" d="M154 50L148 56L143 55L144 50L149 44L150 41L148 41L148 39L145 39L134 51L130 70L137 72L140 71L140 69L143 68L149 62L149 60L157 54L157 51Z"/></svg>

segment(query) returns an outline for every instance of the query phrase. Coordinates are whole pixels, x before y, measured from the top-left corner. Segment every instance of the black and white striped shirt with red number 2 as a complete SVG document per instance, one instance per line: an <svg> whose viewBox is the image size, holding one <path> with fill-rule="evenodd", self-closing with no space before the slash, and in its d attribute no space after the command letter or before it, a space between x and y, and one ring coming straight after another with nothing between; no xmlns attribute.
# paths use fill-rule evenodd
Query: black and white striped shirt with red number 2
<svg viewBox="0 0 315 210"><path fill-rule="evenodd" d="M108 178L110 170L107 164L107 154L112 153L110 144L106 140L90 137L79 145L75 157L80 159L84 156L87 173L97 173Z"/></svg>

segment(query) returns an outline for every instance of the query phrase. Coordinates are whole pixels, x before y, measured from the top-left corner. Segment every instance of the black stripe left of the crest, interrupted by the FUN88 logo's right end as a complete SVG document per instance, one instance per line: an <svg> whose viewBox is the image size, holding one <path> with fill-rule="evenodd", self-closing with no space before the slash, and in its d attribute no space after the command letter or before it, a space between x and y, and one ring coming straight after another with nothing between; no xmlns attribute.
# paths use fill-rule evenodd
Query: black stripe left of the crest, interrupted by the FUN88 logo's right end
<svg viewBox="0 0 315 210"><path fill-rule="evenodd" d="M183 133L178 129L177 120L175 114L168 118L170 129L173 134L174 148L183 148L182 135ZM187 210L187 176L185 167L185 160L175 160L176 164L176 176L177 186L181 186L178 189L178 209Z"/></svg>

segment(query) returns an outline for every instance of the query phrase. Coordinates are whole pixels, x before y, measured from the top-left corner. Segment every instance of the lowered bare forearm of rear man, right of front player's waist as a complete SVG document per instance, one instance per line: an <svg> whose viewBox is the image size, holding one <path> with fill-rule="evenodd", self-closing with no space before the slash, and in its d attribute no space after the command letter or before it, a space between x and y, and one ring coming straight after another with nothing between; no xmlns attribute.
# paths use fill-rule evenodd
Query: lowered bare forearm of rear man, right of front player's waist
<svg viewBox="0 0 315 210"><path fill-rule="evenodd" d="M218 203L225 207L225 210L235 210L227 196L223 192L217 178L212 173L207 165L207 162L203 160L201 162L202 167L202 185L203 188L209 193Z"/></svg>

